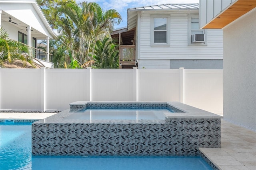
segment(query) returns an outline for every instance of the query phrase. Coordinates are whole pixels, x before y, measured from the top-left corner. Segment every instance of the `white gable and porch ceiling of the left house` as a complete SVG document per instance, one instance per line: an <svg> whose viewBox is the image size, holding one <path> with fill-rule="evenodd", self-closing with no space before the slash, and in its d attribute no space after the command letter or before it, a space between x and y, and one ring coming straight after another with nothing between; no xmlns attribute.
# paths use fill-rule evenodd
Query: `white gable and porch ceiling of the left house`
<svg viewBox="0 0 256 170"><path fill-rule="evenodd" d="M47 36L50 39L57 38L35 0L0 0L0 6L2 12L0 22L18 28L24 34L27 34L26 27L29 25L33 30L31 36L37 39L45 40ZM9 18L16 24L9 22Z"/></svg>

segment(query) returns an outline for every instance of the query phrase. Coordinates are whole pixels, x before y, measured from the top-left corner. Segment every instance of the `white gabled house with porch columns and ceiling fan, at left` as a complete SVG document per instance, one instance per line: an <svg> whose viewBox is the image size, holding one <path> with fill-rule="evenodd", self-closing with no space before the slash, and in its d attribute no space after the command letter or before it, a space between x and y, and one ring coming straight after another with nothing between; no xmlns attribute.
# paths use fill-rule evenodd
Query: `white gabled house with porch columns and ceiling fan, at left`
<svg viewBox="0 0 256 170"><path fill-rule="evenodd" d="M49 40L56 39L36 0L0 0L0 26L9 38L22 42L30 47L32 56L37 56L37 40L47 41L46 61L36 59L35 62L53 68L49 62Z"/></svg>

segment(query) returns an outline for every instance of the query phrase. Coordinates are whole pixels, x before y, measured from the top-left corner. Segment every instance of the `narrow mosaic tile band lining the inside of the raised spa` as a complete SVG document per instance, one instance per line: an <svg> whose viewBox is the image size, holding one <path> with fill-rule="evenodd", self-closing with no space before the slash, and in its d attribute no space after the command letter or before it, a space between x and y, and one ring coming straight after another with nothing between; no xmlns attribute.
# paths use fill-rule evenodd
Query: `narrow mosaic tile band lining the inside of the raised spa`
<svg viewBox="0 0 256 170"><path fill-rule="evenodd" d="M83 111L86 109L168 109L172 112L183 112L166 103L88 103L70 105L70 111Z"/></svg>

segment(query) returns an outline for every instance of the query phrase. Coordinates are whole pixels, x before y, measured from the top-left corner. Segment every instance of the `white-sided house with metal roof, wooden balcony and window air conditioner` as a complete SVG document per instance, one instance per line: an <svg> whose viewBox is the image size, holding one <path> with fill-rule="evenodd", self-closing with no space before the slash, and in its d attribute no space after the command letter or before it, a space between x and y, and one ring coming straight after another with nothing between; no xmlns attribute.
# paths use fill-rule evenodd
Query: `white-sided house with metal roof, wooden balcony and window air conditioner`
<svg viewBox="0 0 256 170"><path fill-rule="evenodd" d="M134 48L132 64L138 68L222 69L222 30L199 29L199 4L144 6L127 12L127 28L111 34L121 45L123 68L122 57Z"/></svg>

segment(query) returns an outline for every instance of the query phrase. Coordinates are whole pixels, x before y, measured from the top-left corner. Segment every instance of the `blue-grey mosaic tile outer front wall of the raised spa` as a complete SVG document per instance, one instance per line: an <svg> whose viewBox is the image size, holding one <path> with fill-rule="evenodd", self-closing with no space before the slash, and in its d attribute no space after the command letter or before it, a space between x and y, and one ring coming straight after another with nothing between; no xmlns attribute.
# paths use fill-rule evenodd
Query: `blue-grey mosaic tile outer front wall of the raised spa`
<svg viewBox="0 0 256 170"><path fill-rule="evenodd" d="M32 124L34 156L198 156L198 147L220 147L220 119Z"/></svg>

